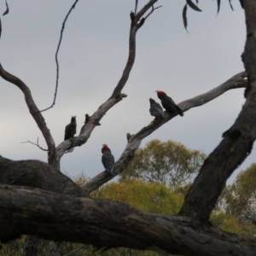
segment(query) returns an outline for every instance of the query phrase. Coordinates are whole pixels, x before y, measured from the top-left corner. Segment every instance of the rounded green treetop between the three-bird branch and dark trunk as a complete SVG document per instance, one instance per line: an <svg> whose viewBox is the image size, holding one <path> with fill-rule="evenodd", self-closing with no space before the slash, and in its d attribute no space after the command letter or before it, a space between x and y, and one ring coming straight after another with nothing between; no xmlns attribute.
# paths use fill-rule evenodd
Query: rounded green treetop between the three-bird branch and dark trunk
<svg viewBox="0 0 256 256"><path fill-rule="evenodd" d="M137 150L131 165L120 174L120 181L136 178L177 188L191 182L206 154L186 148L181 143L152 140Z"/></svg>

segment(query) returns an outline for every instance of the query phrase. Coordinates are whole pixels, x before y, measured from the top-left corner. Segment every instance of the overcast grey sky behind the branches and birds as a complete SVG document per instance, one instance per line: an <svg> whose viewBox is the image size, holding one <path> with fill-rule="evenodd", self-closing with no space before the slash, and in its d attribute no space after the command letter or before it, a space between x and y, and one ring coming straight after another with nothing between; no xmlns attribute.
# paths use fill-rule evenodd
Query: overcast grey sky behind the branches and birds
<svg viewBox="0 0 256 256"><path fill-rule="evenodd" d="M118 83L128 55L129 14L134 2L81 0L69 16L59 53L56 105L43 113L56 145L62 142L71 116L77 116L80 131L84 114L94 113ZM147 2L139 0L139 8ZM234 12L228 1L222 1L217 16L216 1L200 1L201 13L188 9L189 33L183 28L184 3L159 0L156 4L163 7L137 32L136 61L123 90L128 97L110 109L88 143L63 156L62 172L74 176L83 171L89 177L102 172L102 143L108 143L119 159L126 133L136 133L151 122L148 98L157 99L154 90L166 91L178 103L211 90L244 69L241 53L246 27L239 1L232 1ZM9 0L9 15L1 17L1 63L30 87L39 109L49 107L53 100L55 50L62 21L72 4L67 0ZM3 14L3 0L0 10ZM39 137L40 145L46 148L21 91L3 79L0 89L0 154L12 160L46 161L44 151L21 143L36 143ZM189 110L184 117L177 116L147 137L142 146L159 138L211 153L241 111L243 91L231 90ZM236 173L254 160L255 150Z"/></svg>

